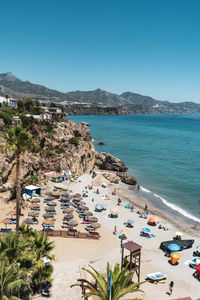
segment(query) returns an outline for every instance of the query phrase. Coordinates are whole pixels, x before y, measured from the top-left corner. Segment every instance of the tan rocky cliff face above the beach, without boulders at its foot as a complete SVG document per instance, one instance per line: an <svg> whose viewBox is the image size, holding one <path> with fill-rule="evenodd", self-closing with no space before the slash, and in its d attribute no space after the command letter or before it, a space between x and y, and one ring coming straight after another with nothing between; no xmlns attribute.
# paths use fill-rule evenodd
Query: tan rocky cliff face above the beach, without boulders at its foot
<svg viewBox="0 0 200 300"><path fill-rule="evenodd" d="M56 123L49 132L48 123L34 125L31 129L39 150L21 157L21 178L42 178L45 172L70 169L72 174L90 173L97 152L90 131L85 125L72 121ZM47 130L46 130L47 129ZM3 141L1 140L2 144ZM10 153L0 153L0 192L4 200L13 195L15 184L15 159Z"/></svg>

